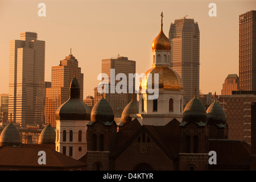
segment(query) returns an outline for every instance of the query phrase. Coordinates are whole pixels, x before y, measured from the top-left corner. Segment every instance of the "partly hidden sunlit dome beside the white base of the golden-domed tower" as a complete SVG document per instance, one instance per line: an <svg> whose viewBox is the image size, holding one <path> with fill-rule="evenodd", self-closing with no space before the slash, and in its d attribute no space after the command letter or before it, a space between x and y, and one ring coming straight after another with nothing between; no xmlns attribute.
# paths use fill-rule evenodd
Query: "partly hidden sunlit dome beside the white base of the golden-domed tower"
<svg viewBox="0 0 256 182"><path fill-rule="evenodd" d="M131 114L138 114L139 113L139 106L137 103L135 103L133 100L127 106L125 109L123 109L122 117L121 117L121 125L131 122Z"/></svg>

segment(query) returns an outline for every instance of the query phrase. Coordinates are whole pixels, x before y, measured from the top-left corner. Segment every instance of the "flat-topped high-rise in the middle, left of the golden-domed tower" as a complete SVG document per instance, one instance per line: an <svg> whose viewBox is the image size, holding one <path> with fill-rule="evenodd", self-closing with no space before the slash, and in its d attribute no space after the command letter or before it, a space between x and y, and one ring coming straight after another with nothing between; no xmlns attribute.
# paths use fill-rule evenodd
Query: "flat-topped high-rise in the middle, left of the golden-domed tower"
<svg viewBox="0 0 256 182"><path fill-rule="evenodd" d="M127 93L110 93L110 81L115 80L116 85L120 80L116 80L110 76L110 69L114 69L115 77L118 73L123 73L127 77ZM129 93L129 84L133 84L133 88L135 89L135 81L133 83L129 83L129 73L136 73L136 61L128 60L127 57L117 56L117 58L113 59L103 59L102 60L102 73L106 73L109 77L109 93L104 93L104 98L110 103L113 107L114 114L116 117L121 117L122 111L125 106L131 101L133 97L134 101L137 101L137 94ZM135 79L134 79L135 80ZM96 88L97 89L97 88ZM96 92L96 96L94 96L94 102L97 102L98 97L100 98L101 94L97 96L97 90L94 89L94 93ZM102 98L102 97L101 97Z"/></svg>

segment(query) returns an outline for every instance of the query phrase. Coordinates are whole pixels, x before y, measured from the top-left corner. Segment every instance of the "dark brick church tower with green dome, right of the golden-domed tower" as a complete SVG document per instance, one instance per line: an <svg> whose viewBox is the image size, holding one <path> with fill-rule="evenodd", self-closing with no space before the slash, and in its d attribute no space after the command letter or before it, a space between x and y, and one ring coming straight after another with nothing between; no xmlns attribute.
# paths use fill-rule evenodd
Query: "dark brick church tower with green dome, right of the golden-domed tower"
<svg viewBox="0 0 256 182"><path fill-rule="evenodd" d="M195 97L185 106L180 123L179 169L208 170L207 112Z"/></svg>

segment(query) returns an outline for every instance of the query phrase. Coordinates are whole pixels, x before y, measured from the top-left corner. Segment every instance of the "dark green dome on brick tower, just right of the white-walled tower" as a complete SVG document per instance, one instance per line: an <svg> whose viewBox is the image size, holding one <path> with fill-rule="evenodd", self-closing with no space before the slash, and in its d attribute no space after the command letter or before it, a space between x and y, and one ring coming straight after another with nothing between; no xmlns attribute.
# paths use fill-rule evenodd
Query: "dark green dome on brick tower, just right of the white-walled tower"
<svg viewBox="0 0 256 182"><path fill-rule="evenodd" d="M105 98L102 98L93 106L92 113L90 114L90 121L96 122L112 122L114 121L114 112L112 106Z"/></svg>

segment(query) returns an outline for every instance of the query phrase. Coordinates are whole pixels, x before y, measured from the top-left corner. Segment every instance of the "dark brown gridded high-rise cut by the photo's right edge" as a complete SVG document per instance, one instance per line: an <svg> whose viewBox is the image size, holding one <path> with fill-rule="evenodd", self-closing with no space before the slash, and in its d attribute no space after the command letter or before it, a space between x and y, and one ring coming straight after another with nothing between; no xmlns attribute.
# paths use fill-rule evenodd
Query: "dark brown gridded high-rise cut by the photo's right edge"
<svg viewBox="0 0 256 182"><path fill-rule="evenodd" d="M239 16L239 89L256 90L256 11Z"/></svg>

